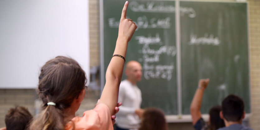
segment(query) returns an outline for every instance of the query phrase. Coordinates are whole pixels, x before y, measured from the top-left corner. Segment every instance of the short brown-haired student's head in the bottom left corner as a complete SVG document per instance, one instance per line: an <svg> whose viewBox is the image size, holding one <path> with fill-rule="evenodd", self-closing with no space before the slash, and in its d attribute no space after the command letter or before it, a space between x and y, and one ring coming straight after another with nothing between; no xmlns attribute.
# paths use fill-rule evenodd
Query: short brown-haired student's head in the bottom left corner
<svg viewBox="0 0 260 130"><path fill-rule="evenodd" d="M30 123L32 115L22 106L16 106L8 110L5 115L5 125L7 130L25 130Z"/></svg>

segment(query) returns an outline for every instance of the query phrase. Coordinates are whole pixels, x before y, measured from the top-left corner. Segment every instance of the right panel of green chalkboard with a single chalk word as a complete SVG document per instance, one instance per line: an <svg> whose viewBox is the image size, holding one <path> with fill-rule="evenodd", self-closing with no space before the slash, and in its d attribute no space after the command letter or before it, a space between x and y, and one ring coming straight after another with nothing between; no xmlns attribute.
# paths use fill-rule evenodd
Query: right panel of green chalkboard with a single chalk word
<svg viewBox="0 0 260 130"><path fill-rule="evenodd" d="M210 78L201 112L239 95L250 113L246 3L180 2L195 15L181 16L182 113L200 78Z"/></svg>

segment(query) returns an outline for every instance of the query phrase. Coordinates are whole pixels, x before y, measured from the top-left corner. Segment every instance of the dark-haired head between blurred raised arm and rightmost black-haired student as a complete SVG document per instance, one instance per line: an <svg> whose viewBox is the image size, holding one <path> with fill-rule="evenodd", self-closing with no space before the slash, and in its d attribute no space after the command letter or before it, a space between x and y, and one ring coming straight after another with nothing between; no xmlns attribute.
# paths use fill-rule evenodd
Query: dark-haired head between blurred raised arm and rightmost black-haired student
<svg viewBox="0 0 260 130"><path fill-rule="evenodd" d="M218 128L225 127L224 120L220 118L220 111L221 111L220 105L214 106L210 109L209 112L210 130L216 130Z"/></svg>

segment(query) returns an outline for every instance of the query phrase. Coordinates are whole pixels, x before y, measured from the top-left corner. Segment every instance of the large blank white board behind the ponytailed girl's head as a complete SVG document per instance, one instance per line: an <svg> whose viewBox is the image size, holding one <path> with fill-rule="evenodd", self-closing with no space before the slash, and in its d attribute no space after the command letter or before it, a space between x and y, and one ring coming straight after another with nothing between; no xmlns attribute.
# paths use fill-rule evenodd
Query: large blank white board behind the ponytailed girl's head
<svg viewBox="0 0 260 130"><path fill-rule="evenodd" d="M0 88L35 88L40 67L70 56L89 77L88 0L0 1Z"/></svg>

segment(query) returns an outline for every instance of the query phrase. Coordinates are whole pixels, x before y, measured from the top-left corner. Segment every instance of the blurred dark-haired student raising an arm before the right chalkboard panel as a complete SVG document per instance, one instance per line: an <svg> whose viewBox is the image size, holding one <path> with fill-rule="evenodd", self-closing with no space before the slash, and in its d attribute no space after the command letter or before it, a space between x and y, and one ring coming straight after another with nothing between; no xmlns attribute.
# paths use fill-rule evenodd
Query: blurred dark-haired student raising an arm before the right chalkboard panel
<svg viewBox="0 0 260 130"><path fill-rule="evenodd" d="M201 79L198 84L198 88L195 92L193 100L191 102L190 113L192 117L192 125L196 130L216 130L218 128L225 127L224 120L220 118L221 107L219 105L214 106L209 112L209 124L207 124L201 117L201 103L204 90L207 88L210 79Z"/></svg>

